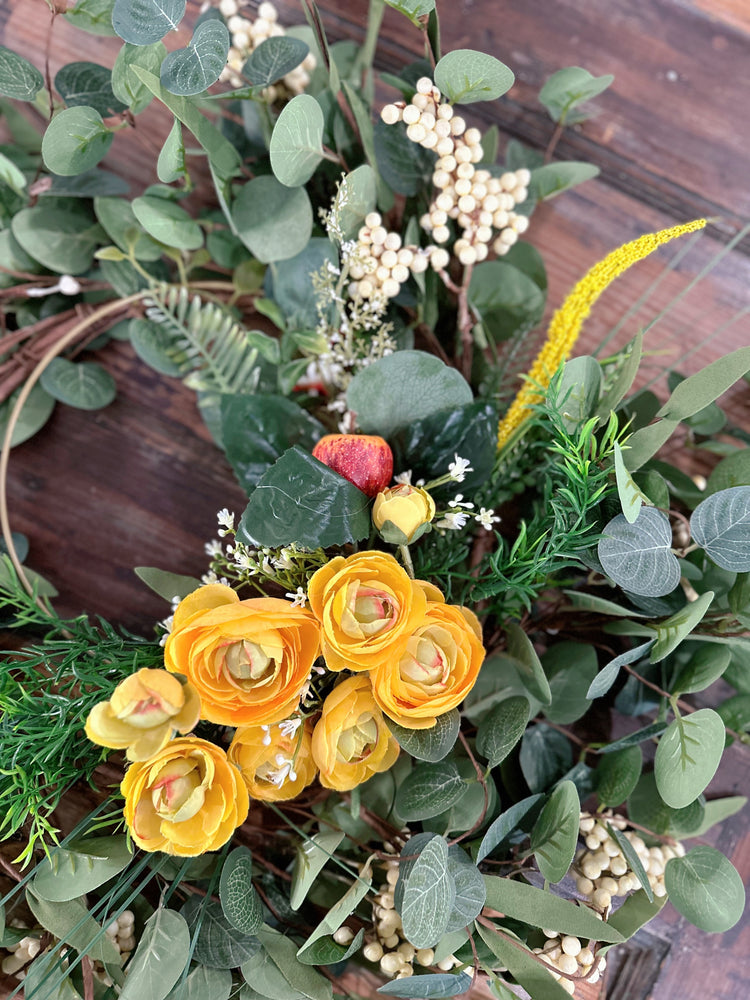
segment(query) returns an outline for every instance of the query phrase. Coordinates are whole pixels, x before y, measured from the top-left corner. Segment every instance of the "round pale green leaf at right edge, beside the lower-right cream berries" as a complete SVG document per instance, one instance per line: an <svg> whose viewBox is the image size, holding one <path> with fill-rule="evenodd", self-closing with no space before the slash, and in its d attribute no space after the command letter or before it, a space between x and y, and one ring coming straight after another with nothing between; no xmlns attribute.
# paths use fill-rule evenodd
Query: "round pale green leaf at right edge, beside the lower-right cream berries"
<svg viewBox="0 0 750 1000"><path fill-rule="evenodd" d="M703 931L720 934L734 927L745 908L745 889L732 862L714 847L700 846L664 869L669 901Z"/></svg>

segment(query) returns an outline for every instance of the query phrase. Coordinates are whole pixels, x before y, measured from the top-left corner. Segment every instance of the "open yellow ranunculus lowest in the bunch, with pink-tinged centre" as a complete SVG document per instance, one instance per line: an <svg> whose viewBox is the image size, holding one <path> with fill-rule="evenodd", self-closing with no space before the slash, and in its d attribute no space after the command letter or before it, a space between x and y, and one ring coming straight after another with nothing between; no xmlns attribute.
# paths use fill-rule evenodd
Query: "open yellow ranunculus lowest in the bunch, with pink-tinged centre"
<svg viewBox="0 0 750 1000"><path fill-rule="evenodd" d="M131 764L120 791L135 843L186 858L226 844L249 807L237 768L221 747L195 736L172 740L150 760Z"/></svg>

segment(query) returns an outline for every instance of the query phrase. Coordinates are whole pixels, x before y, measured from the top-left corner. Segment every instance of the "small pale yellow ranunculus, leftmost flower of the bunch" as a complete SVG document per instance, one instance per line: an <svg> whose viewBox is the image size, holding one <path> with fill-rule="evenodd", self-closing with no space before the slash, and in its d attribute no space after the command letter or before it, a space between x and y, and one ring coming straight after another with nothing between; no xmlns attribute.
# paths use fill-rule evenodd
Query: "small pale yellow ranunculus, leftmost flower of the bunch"
<svg viewBox="0 0 750 1000"><path fill-rule="evenodd" d="M128 760L146 760L175 731L189 733L200 712L192 684L181 684L166 670L143 667L121 681L109 701L94 706L86 735L99 746L126 750Z"/></svg>

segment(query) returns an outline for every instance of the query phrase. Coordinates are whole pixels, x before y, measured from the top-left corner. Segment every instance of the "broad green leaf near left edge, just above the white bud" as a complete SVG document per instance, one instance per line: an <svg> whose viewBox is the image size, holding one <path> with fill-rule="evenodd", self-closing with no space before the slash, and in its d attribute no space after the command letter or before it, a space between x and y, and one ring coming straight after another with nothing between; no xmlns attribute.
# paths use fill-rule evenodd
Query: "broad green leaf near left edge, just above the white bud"
<svg viewBox="0 0 750 1000"><path fill-rule="evenodd" d="M11 225L13 235L26 253L58 274L87 271L97 245L104 241L103 231L85 206L77 202L64 208L46 205L24 208L14 215Z"/></svg>

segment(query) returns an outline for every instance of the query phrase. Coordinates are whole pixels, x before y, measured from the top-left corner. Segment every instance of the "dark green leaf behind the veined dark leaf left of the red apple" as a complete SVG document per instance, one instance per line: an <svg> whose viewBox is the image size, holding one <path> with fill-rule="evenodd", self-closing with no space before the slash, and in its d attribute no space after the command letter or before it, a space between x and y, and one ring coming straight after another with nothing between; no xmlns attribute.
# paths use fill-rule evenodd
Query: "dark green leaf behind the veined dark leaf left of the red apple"
<svg viewBox="0 0 750 1000"><path fill-rule="evenodd" d="M222 396L221 437L237 480L248 493L292 445L312 451L325 428L284 396Z"/></svg>

